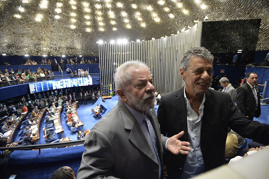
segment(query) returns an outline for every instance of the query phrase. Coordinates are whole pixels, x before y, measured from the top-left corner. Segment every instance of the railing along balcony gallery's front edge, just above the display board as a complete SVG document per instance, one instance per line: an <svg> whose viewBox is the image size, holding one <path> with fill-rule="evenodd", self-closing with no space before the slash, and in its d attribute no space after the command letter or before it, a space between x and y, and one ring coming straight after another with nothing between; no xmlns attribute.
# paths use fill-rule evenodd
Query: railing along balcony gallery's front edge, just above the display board
<svg viewBox="0 0 269 179"><path fill-rule="evenodd" d="M91 77L98 77L100 76L100 73L90 73L89 75L91 75ZM49 81L49 80L55 80L55 79L65 79L65 78L77 78L79 77L78 75L75 74L68 74L68 75L54 75L53 77L50 76L45 76L45 77L37 77L37 80L34 81L33 78L31 78L31 80L27 80L24 83L19 83L18 80L12 80L10 81L10 84L8 83L3 83L0 82L0 88L1 87L8 87L8 86L14 86L14 85L18 85L18 84L27 84L27 83L32 83L32 82L39 82L39 81ZM3 83L3 84L1 84Z"/></svg>

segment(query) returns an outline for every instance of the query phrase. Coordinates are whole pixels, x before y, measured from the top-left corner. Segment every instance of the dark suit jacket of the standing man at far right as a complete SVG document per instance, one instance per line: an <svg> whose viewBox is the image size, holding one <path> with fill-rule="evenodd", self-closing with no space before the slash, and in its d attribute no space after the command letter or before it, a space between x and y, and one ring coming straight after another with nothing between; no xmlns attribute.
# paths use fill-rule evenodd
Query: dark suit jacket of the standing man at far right
<svg viewBox="0 0 269 179"><path fill-rule="evenodd" d="M258 108L256 108L256 100L250 86L245 83L237 90L236 105L238 109L249 119L253 120L254 117L259 118L261 115L261 104L260 104L260 91L255 85L258 97Z"/></svg>

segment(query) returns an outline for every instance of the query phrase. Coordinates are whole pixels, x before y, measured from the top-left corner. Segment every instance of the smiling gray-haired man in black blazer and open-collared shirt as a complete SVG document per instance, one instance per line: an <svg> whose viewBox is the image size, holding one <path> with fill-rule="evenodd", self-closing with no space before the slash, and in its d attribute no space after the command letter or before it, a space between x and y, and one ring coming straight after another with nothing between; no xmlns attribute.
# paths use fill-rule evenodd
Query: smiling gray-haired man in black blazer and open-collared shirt
<svg viewBox="0 0 269 179"><path fill-rule="evenodd" d="M185 86L162 96L158 107L161 134L171 137L184 131L188 155L167 153L167 178L190 178L225 164L228 126L242 137L269 143L269 125L248 120L229 94L208 90L212 80L213 55L204 47L184 53L180 75Z"/></svg>

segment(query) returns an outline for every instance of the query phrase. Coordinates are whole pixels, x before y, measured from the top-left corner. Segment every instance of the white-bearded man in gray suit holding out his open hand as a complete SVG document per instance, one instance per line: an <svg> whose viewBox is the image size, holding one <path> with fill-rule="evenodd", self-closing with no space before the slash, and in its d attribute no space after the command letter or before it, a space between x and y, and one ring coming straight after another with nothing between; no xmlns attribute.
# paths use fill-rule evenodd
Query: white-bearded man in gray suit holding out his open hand
<svg viewBox="0 0 269 179"><path fill-rule="evenodd" d="M145 64L126 62L114 77L119 102L86 138L77 178L164 178L163 148L187 155L189 142L178 140L184 132L169 140L161 136L153 109L155 88Z"/></svg>

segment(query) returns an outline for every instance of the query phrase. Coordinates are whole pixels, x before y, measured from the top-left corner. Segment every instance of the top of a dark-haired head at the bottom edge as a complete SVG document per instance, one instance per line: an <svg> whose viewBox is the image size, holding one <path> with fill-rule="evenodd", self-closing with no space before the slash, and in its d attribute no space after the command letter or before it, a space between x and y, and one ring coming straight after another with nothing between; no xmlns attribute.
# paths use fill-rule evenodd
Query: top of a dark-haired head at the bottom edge
<svg viewBox="0 0 269 179"><path fill-rule="evenodd" d="M63 166L57 169L50 179L76 179L76 174L69 166Z"/></svg>

